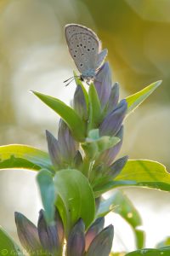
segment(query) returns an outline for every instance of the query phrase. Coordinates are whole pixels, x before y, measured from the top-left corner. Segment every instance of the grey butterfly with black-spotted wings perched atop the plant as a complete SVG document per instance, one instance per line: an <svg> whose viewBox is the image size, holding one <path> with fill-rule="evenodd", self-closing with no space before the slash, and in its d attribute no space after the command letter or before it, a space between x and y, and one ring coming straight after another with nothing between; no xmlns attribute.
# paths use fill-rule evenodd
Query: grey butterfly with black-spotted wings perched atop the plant
<svg viewBox="0 0 170 256"><path fill-rule="evenodd" d="M86 26L67 24L65 38L71 57L81 73L80 79L89 83L104 62L107 49L102 50L98 36Z"/></svg>

